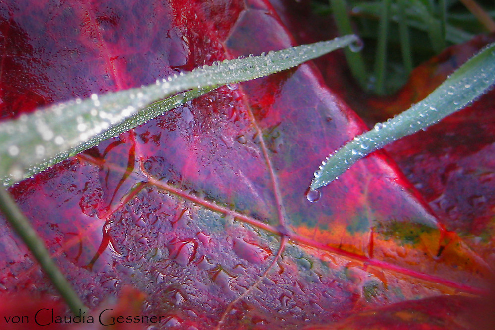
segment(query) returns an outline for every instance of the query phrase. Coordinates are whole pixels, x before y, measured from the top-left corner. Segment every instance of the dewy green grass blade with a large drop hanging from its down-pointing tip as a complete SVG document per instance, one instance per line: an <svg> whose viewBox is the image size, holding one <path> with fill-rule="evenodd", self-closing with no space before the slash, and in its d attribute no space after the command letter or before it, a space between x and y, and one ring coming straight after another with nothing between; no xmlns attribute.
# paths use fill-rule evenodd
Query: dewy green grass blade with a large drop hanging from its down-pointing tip
<svg viewBox="0 0 495 330"><path fill-rule="evenodd" d="M386 144L433 125L464 108L490 89L495 82L495 43L481 50L457 69L445 82L421 102L398 116L347 142L323 161L310 189L325 186L357 160Z"/></svg>

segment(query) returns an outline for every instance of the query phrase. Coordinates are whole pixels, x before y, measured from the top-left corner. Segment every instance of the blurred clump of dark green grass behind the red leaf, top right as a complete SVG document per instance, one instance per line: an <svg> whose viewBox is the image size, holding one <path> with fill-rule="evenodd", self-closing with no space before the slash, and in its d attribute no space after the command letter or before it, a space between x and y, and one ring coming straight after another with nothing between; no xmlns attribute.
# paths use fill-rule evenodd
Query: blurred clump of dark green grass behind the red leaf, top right
<svg viewBox="0 0 495 330"><path fill-rule="evenodd" d="M381 95L395 92L414 66L445 47L487 31L458 1L315 0L312 4L317 13L335 20L341 34L355 33L363 39L363 54L346 52L347 61L361 87Z"/></svg>

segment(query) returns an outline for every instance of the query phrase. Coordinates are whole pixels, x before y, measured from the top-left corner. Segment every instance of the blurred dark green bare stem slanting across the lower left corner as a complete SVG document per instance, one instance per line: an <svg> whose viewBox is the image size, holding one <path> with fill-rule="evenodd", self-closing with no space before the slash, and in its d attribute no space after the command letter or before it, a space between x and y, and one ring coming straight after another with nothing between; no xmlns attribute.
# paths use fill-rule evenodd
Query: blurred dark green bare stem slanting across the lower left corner
<svg viewBox="0 0 495 330"><path fill-rule="evenodd" d="M87 311L86 306L72 289L71 284L60 272L57 265L51 259L50 254L36 231L31 227L28 219L15 203L10 193L5 189L0 189L0 210L5 215L8 223L27 245L41 268L48 275L51 283L55 286L62 298L69 306L72 313L77 315Z"/></svg>

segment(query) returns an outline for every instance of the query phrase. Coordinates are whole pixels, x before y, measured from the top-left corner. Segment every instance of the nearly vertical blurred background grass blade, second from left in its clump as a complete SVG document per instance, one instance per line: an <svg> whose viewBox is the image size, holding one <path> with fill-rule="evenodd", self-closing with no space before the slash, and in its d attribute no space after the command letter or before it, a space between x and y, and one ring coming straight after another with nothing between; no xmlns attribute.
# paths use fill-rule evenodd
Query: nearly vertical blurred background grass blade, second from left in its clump
<svg viewBox="0 0 495 330"><path fill-rule="evenodd" d="M378 45L375 56L375 92L385 93L385 70L387 63L387 40L389 37L389 11L391 0L382 0L380 25L378 30Z"/></svg>

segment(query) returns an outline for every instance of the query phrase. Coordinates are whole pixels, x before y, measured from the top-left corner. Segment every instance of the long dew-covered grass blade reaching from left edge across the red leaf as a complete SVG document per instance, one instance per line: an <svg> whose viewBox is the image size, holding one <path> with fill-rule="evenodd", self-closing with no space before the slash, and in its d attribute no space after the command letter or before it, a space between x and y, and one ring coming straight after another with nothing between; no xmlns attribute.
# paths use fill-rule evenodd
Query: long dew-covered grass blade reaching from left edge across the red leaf
<svg viewBox="0 0 495 330"><path fill-rule="evenodd" d="M22 115L17 120L2 122L0 180L5 186L12 185L68 156L142 124L152 116L142 116L139 112L164 97L192 90L172 97L171 107L176 107L195 93L203 93L201 90L286 70L358 40L355 35L343 36L261 56L224 60L146 87L100 96L93 94L85 100L51 105L30 115Z"/></svg>

